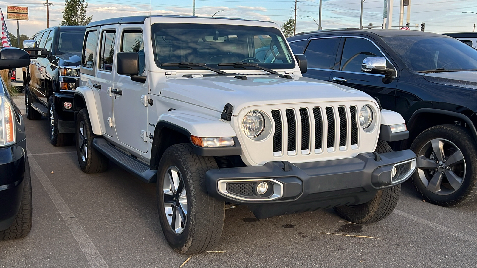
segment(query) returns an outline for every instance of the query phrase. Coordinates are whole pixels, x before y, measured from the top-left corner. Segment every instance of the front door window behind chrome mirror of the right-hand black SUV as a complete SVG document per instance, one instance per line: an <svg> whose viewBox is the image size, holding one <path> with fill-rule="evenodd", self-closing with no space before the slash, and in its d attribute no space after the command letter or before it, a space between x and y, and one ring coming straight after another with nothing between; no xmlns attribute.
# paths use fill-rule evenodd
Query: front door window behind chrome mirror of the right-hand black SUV
<svg viewBox="0 0 477 268"><path fill-rule="evenodd" d="M362 72L363 60L368 57L384 57L378 48L363 38L346 38L341 57L341 71Z"/></svg>

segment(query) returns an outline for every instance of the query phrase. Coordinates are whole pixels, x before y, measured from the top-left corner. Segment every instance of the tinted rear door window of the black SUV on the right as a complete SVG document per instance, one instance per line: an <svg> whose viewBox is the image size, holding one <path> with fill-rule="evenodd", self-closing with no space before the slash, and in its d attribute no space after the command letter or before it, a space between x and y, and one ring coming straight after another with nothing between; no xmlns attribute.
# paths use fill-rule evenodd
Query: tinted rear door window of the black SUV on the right
<svg viewBox="0 0 477 268"><path fill-rule="evenodd" d="M332 69L336 59L335 48L339 38L313 39L306 48L308 68ZM361 65L360 65L361 71Z"/></svg>

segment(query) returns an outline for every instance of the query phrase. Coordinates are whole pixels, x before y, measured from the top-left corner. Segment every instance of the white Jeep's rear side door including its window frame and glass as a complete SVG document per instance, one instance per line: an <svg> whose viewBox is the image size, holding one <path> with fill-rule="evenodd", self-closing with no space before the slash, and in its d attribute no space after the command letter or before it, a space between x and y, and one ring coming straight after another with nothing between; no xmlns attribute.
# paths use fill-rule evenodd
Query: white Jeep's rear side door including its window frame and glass
<svg viewBox="0 0 477 268"><path fill-rule="evenodd" d="M99 56L96 66L96 75L94 78L94 89L98 91L101 102L102 118L104 122L104 134L113 136L113 94L111 90L114 88L114 72L116 67L114 64L118 26L107 25L101 27Z"/></svg>

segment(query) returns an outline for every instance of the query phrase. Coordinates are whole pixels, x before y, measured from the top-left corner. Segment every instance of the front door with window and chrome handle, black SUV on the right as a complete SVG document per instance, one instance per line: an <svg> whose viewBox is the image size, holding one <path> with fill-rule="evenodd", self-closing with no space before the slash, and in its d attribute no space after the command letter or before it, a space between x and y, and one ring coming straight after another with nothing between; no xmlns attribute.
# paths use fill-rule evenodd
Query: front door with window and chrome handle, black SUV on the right
<svg viewBox="0 0 477 268"><path fill-rule="evenodd" d="M363 60L376 56L385 57L372 41L360 37L346 37L342 50L338 52L337 63L330 81L377 97L384 109L394 110L397 77L388 78L381 74L361 71ZM387 64L388 68L392 66L389 60Z"/></svg>

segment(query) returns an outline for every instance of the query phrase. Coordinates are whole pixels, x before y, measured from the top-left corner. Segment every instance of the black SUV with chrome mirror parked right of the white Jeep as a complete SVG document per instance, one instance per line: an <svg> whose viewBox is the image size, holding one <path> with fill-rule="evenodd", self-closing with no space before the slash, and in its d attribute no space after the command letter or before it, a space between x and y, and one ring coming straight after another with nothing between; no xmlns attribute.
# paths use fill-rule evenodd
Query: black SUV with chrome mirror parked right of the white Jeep
<svg viewBox="0 0 477 268"><path fill-rule="evenodd" d="M412 181L425 200L466 203L477 193L477 50L422 31L299 33L288 39L305 54L305 76L377 97L402 114L409 139L392 144L417 155Z"/></svg>

